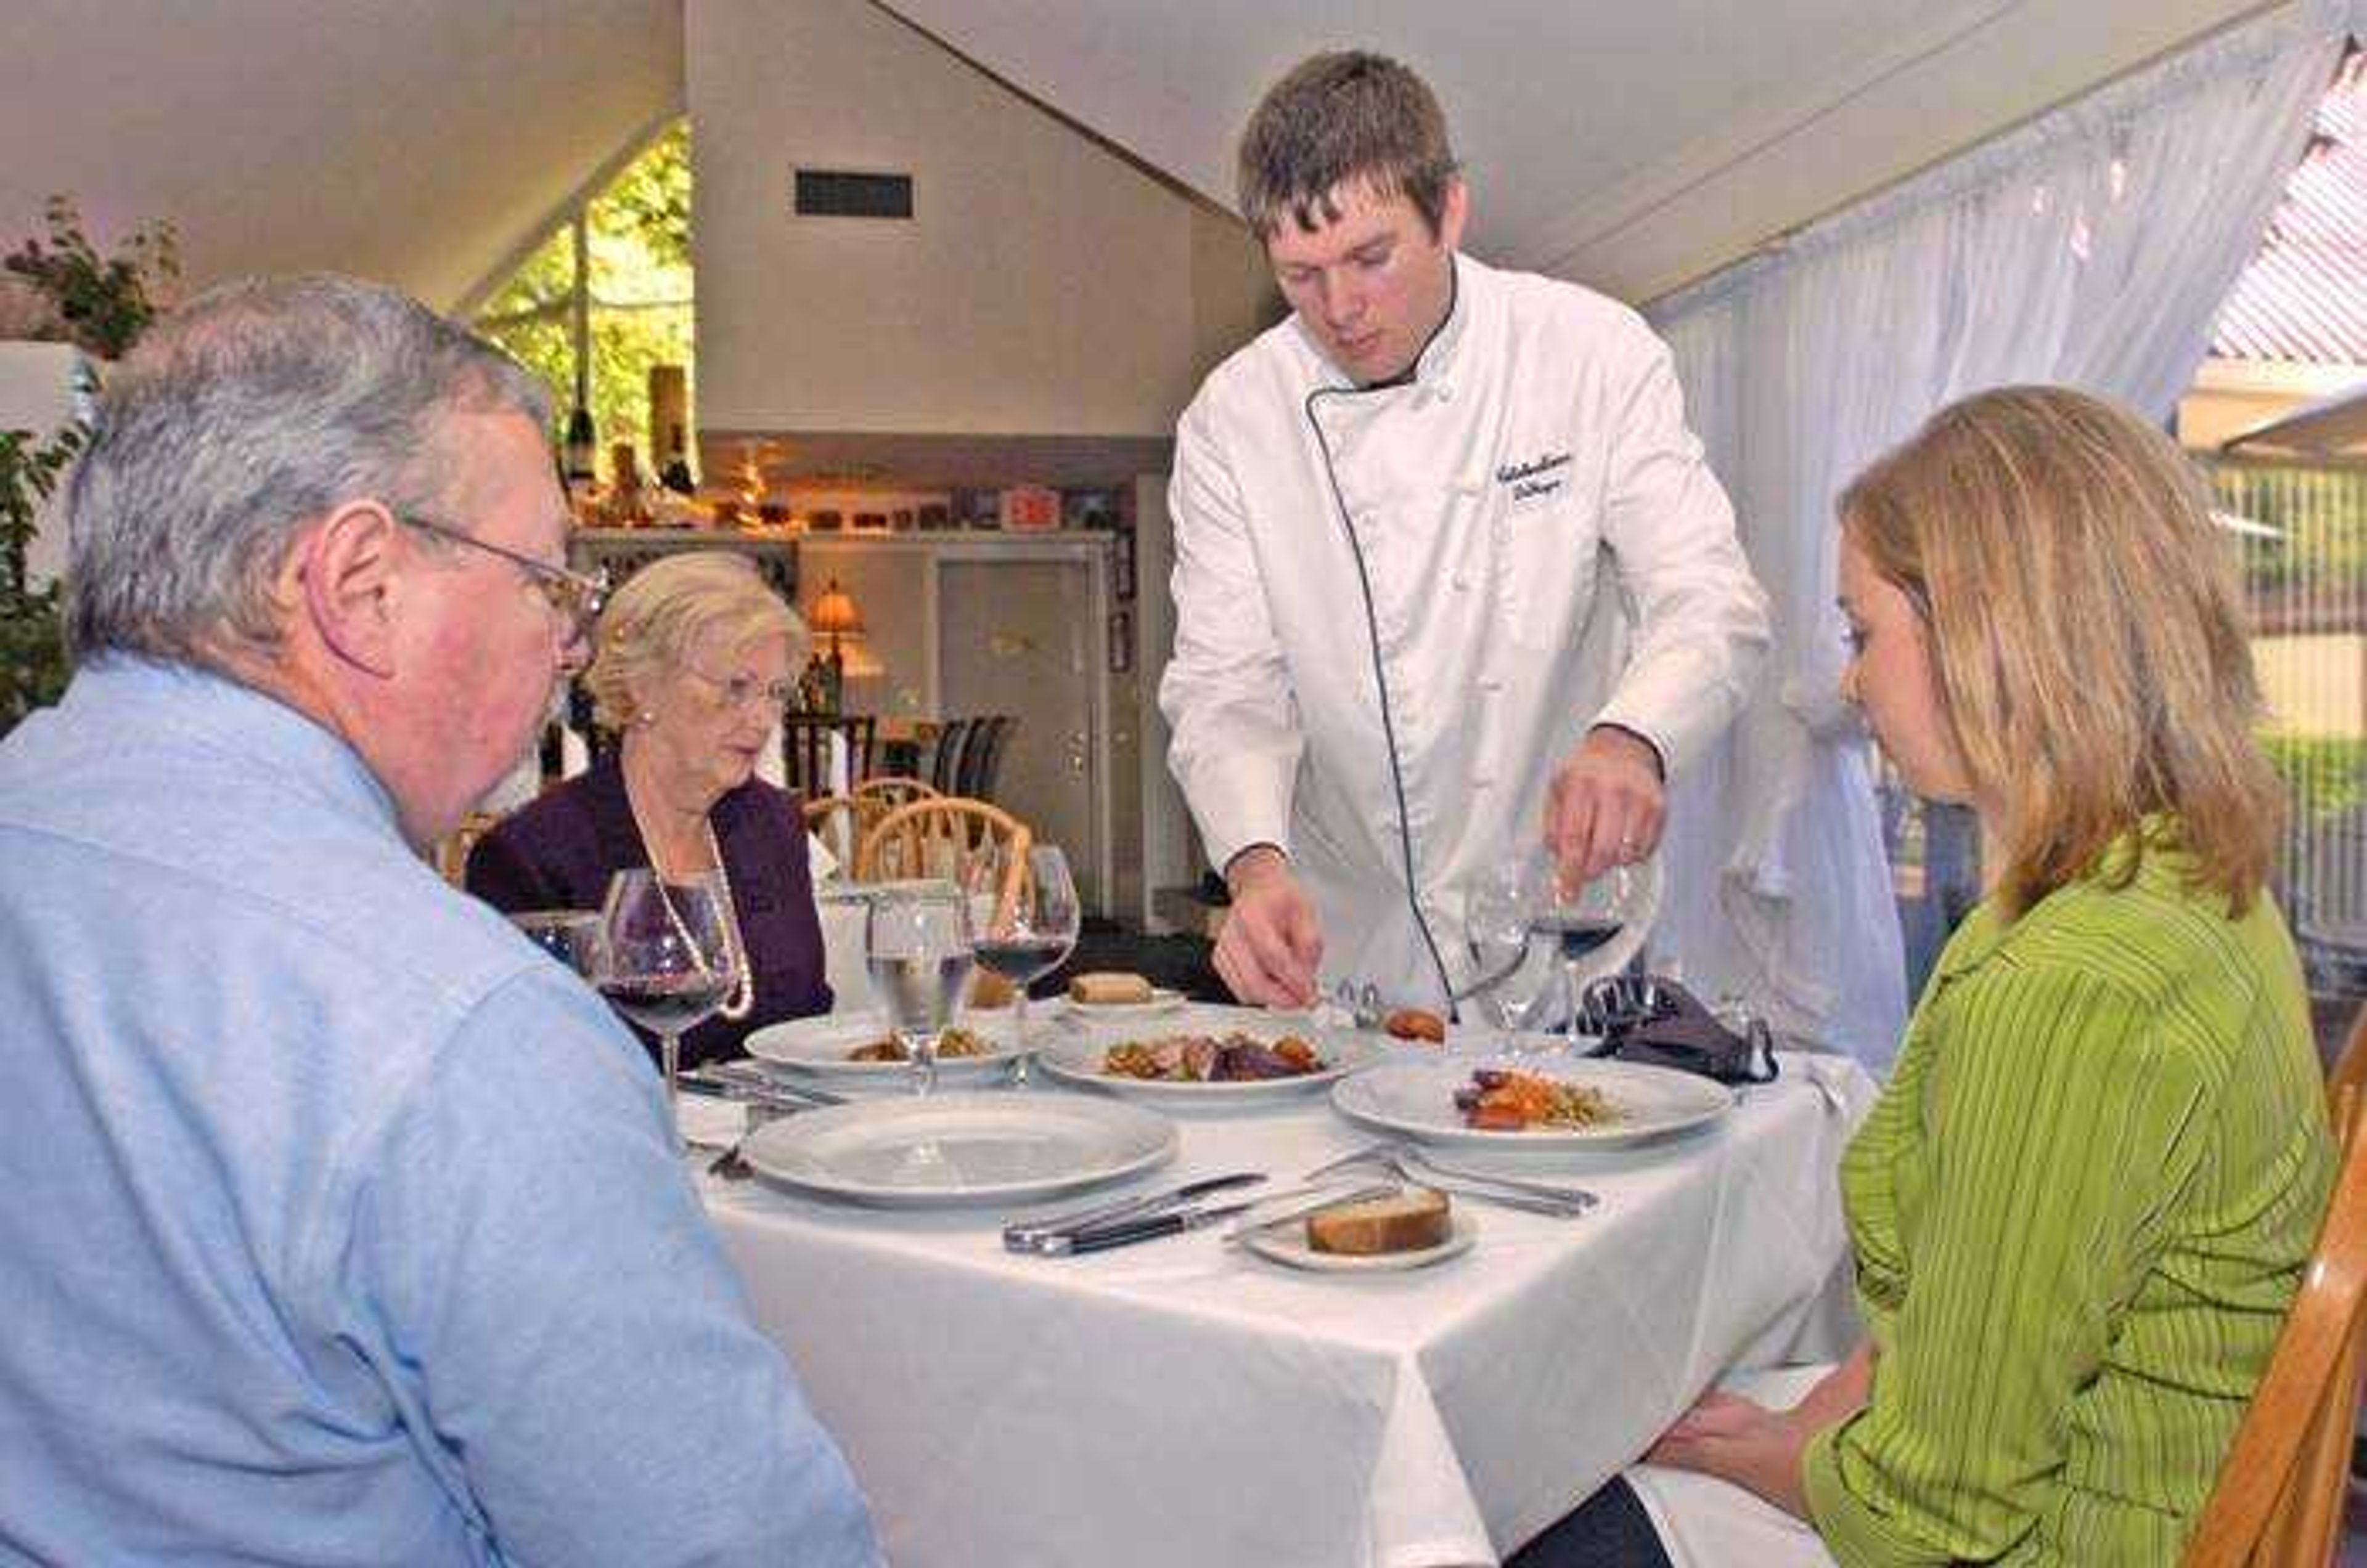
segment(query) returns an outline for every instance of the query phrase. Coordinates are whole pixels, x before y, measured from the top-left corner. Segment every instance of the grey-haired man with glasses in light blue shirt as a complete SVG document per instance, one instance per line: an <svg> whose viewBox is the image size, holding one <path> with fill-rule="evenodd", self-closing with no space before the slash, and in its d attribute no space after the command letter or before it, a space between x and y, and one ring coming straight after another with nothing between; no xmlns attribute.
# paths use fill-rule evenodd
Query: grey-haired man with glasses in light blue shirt
<svg viewBox="0 0 2367 1568"><path fill-rule="evenodd" d="M386 289L111 374L0 743L0 1563L869 1563L606 1007L419 849L594 608L547 402Z"/></svg>

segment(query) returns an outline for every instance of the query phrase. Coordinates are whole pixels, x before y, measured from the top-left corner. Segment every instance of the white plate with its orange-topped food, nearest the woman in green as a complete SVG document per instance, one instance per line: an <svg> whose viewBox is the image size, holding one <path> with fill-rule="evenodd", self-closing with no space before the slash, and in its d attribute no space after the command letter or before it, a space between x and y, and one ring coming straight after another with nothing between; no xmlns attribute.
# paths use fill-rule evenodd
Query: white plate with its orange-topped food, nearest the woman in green
<svg viewBox="0 0 2367 1568"><path fill-rule="evenodd" d="M1636 1062L1397 1062L1333 1086L1349 1121L1515 1154L1671 1138L1733 1104L1723 1083Z"/></svg>

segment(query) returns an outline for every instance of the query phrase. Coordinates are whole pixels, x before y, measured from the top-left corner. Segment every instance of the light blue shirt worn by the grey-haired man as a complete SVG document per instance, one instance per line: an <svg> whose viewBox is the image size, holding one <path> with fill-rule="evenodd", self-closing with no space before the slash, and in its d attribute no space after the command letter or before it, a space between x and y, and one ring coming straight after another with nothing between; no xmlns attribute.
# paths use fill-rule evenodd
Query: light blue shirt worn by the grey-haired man
<svg viewBox="0 0 2367 1568"><path fill-rule="evenodd" d="M0 743L0 1563L871 1563L632 1036L336 736Z"/></svg>

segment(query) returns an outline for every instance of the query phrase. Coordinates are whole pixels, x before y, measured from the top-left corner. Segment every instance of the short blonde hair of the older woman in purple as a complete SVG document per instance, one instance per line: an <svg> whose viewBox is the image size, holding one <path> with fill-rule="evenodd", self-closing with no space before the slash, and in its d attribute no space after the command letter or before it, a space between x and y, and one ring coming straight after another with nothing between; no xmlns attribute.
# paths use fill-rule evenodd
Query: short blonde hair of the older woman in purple
<svg viewBox="0 0 2367 1568"><path fill-rule="evenodd" d="M644 565L599 617L585 686L604 728L625 728L639 712L634 691L684 667L691 643L724 631L734 648L767 636L788 639L791 672L805 669L812 636L755 565L731 551L684 551Z"/></svg>

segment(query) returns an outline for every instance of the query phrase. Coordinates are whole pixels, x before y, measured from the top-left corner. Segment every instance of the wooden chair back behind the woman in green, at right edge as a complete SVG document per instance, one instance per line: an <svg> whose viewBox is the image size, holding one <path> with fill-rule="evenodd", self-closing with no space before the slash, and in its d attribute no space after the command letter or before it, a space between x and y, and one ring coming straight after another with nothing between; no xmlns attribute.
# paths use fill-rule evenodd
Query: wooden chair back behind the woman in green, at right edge
<svg viewBox="0 0 2367 1568"><path fill-rule="evenodd" d="M2343 1149L2334 1201L2268 1374L2187 1542L2185 1568L2324 1568L2334 1561L2358 1428L2360 1308L2367 1303L2362 1036L2367 1026L2350 1031L2329 1078Z"/></svg>

